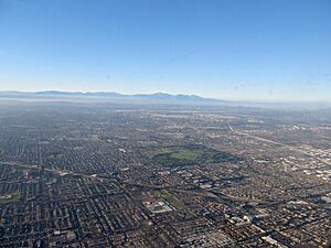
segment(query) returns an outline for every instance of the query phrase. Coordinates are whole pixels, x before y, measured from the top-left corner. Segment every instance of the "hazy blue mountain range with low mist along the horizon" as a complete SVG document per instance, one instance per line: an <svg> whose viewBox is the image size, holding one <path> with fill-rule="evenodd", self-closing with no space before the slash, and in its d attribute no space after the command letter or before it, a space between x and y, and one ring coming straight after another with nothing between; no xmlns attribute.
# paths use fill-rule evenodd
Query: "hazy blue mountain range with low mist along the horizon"
<svg viewBox="0 0 331 248"><path fill-rule="evenodd" d="M145 103L173 105L222 105L237 107L267 107L280 109L331 109L331 103L296 103L296 101L243 101L205 98L196 95L172 95L166 93L126 95L115 91L0 91L0 99L29 100L65 100L65 101L108 101L108 103Z"/></svg>

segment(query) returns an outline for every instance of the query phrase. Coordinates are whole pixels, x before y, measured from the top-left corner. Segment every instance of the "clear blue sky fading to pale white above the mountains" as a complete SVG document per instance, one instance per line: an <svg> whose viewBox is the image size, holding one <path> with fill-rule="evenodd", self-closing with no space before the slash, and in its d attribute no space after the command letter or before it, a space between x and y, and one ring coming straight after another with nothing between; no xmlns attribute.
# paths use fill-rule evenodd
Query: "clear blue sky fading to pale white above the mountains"
<svg viewBox="0 0 331 248"><path fill-rule="evenodd" d="M331 101L331 1L0 0L0 90Z"/></svg>

